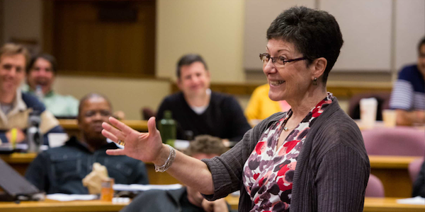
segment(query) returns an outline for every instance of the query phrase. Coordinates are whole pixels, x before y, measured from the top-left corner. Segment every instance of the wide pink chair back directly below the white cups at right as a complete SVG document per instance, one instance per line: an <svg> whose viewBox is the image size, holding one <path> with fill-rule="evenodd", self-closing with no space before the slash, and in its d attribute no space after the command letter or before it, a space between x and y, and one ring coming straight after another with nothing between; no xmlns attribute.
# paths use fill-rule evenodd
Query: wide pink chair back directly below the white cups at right
<svg viewBox="0 0 425 212"><path fill-rule="evenodd" d="M424 156L425 131L413 127L376 128L361 131L368 155Z"/></svg>

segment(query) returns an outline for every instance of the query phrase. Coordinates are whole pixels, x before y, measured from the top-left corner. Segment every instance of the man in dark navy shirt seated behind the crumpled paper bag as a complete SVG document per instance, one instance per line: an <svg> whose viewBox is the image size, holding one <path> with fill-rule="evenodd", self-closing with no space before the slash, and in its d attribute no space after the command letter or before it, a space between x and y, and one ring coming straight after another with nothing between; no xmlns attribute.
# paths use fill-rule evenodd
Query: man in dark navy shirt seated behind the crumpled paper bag
<svg viewBox="0 0 425 212"><path fill-rule="evenodd" d="M82 98L78 115L81 139L72 137L64 146L40 153L28 167L28 181L47 194L88 194L81 180L91 172L94 163L100 163L117 184L148 184L142 161L106 155L107 149L118 148L101 134L101 124L108 122L111 114L112 105L105 96L91 93Z"/></svg>

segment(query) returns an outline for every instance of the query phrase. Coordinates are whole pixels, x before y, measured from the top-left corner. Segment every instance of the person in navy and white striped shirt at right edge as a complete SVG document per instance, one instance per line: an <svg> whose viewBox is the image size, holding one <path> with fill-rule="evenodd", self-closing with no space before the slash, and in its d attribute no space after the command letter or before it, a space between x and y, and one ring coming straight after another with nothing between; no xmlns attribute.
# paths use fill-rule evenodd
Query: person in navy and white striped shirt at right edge
<svg viewBox="0 0 425 212"><path fill-rule="evenodd" d="M398 125L425 123L425 37L418 45L418 62L400 71L392 88L390 107Z"/></svg>

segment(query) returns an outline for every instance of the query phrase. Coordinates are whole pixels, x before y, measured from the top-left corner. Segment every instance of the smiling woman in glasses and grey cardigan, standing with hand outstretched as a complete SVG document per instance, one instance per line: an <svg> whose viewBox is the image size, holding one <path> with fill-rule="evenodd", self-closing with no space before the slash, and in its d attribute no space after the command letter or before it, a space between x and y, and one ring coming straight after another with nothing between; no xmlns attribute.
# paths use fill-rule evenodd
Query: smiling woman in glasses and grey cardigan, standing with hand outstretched
<svg viewBox="0 0 425 212"><path fill-rule="evenodd" d="M260 54L271 100L288 112L271 115L220 157L196 160L162 143L155 119L140 133L116 119L103 135L128 155L154 163L206 199L240 190L239 211L363 211L370 164L358 126L327 92L329 71L343 44L325 11L293 7L267 30Z"/></svg>

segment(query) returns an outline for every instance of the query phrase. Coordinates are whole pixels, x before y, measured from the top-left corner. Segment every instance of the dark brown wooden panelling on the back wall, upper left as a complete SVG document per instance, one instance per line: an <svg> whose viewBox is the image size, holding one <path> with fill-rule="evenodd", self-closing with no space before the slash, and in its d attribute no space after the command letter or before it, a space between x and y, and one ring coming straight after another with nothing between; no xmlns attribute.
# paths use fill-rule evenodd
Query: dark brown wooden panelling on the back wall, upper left
<svg viewBox="0 0 425 212"><path fill-rule="evenodd" d="M134 1L135 22L98 20L98 4L55 1L55 55L62 73L154 76L154 1Z"/></svg>

